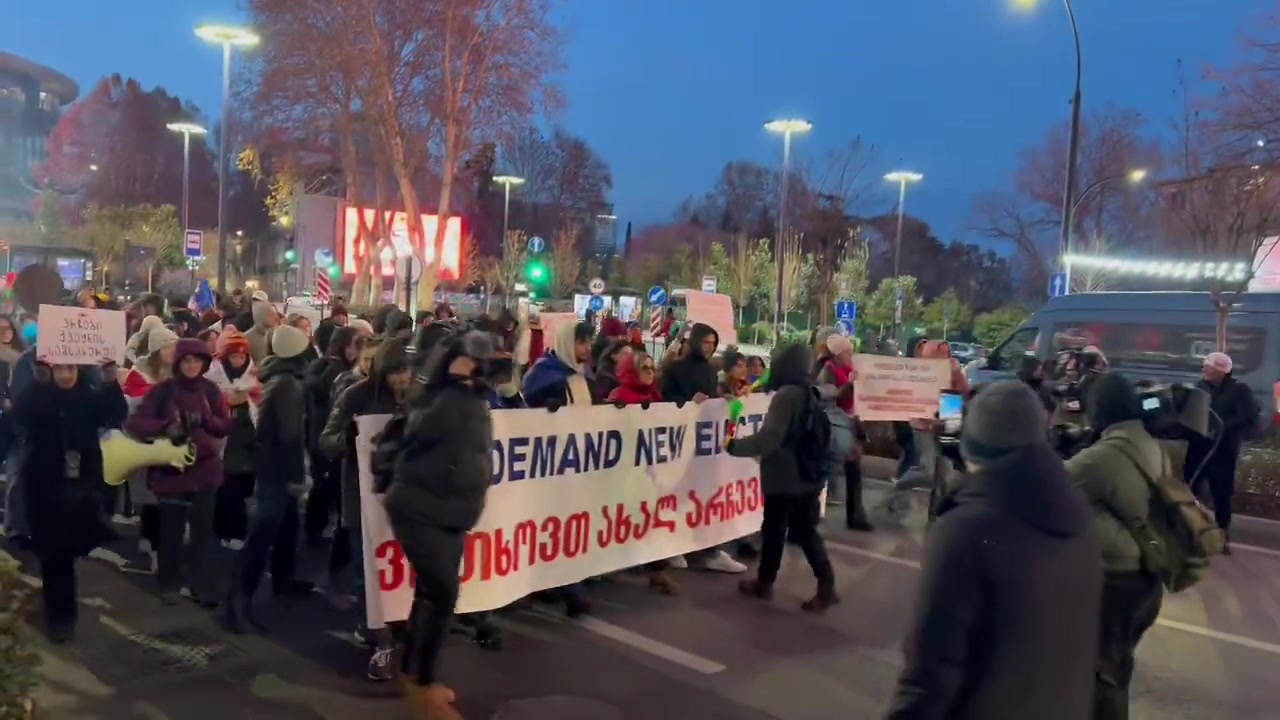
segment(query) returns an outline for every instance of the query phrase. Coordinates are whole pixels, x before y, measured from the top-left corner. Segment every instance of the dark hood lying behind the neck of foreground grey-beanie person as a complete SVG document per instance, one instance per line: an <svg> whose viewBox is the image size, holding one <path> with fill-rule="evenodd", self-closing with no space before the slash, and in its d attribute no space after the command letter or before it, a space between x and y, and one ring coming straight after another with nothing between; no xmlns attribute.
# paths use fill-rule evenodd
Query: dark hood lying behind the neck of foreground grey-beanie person
<svg viewBox="0 0 1280 720"><path fill-rule="evenodd" d="M1048 442L1021 448L968 473L938 512L970 503L998 507L1041 533L1059 538L1074 538L1093 525L1088 501L1071 483L1062 460Z"/></svg>

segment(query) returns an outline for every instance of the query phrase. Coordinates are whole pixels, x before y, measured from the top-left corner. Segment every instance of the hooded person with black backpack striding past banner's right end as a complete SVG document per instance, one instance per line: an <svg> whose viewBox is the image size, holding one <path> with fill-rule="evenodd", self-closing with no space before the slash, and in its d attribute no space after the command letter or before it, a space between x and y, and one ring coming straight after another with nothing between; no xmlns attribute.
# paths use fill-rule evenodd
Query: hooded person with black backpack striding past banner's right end
<svg viewBox="0 0 1280 720"><path fill-rule="evenodd" d="M800 343L783 346L773 356L768 391L773 400L759 430L745 438L731 438L726 451L735 457L760 459L760 492L764 495L764 521L760 525L760 566L755 579L742 580L739 591L748 597L768 600L782 566L782 551L790 538L804 551L809 568L818 579L818 592L801 609L826 612L840 602L836 577L827 557L827 547L818 534L822 520L819 496L827 478L809 475L800 455L805 445L805 414L810 404L823 400L814 395L813 354ZM826 398L835 400L835 395ZM835 429L835 428L833 428ZM852 438L849 446L852 445Z"/></svg>

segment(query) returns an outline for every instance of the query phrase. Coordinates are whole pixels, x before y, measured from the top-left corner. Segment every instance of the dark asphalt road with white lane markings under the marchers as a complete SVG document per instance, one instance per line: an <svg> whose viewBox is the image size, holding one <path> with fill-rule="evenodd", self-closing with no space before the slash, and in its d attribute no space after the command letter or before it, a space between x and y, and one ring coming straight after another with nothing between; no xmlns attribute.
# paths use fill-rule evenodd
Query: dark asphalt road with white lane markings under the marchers
<svg viewBox="0 0 1280 720"><path fill-rule="evenodd" d="M676 571L675 598L622 575L594 587L588 620L517 611L498 652L453 638L445 680L468 720L878 717L900 667L922 515L869 536L832 519L844 603L826 616L799 610L813 579L794 551L772 605L740 598L723 575ZM393 684L364 679L353 619L320 596L268 601L270 635L230 637L195 606L161 607L151 578L119 560L81 564L79 633L42 648L41 720L407 716ZM1201 587L1167 598L1139 655L1134 720L1280 719L1280 553L1216 560Z"/></svg>

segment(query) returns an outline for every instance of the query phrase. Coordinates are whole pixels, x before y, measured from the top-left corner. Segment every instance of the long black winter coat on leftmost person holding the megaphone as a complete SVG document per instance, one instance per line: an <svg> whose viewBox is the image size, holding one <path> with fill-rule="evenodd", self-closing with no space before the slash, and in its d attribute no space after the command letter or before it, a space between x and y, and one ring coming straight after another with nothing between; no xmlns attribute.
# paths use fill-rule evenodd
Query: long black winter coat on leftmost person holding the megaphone
<svg viewBox="0 0 1280 720"><path fill-rule="evenodd" d="M61 389L33 382L9 414L23 436L18 473L27 493L27 523L38 555L88 555L114 539L102 516L102 448L99 433L119 427L128 414L116 383ZM79 477L67 477L67 454L79 454Z"/></svg>

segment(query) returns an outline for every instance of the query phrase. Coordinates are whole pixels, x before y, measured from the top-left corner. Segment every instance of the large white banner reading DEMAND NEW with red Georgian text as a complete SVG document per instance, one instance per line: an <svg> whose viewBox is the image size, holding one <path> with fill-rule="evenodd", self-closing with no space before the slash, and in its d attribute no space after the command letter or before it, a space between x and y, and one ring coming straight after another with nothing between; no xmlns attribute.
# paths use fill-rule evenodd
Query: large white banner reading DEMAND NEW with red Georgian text
<svg viewBox="0 0 1280 720"><path fill-rule="evenodd" d="M745 398L739 433L769 397ZM408 618L413 573L372 493L371 439L388 415L356 419L369 626ZM493 413L493 484L467 536L458 612L685 555L760 529L759 465L724 452L723 400Z"/></svg>

